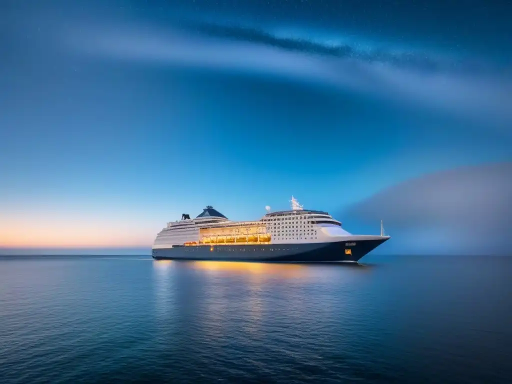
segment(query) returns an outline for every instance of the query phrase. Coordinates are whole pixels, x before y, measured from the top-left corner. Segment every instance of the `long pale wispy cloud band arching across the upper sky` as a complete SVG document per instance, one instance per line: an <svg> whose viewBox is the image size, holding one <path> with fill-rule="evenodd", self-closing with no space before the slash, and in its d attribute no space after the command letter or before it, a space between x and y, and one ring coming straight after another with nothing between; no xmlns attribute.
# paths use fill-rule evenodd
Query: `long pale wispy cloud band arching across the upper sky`
<svg viewBox="0 0 512 384"><path fill-rule="evenodd" d="M195 31L192 33L191 31ZM414 107L481 119L511 134L512 76L424 53L359 50L202 24L67 33L73 49L118 60L245 71L360 92Z"/></svg>

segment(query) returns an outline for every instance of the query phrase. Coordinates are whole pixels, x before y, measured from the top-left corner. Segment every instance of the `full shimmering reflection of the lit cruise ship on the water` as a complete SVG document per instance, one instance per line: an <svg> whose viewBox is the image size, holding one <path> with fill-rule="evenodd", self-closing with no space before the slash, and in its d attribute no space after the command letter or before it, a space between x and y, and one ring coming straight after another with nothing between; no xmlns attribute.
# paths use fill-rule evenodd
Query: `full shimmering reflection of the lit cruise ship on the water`
<svg viewBox="0 0 512 384"><path fill-rule="evenodd" d="M294 324L318 333L336 324L340 312L353 308L354 283L361 283L367 274L364 268L339 264L155 261L153 265L156 318L166 329L159 339L165 345L181 346L179 353L198 356L206 353L205 340L229 348L250 337L259 348L267 348L268 329L286 330ZM301 342L293 332L286 338Z"/></svg>

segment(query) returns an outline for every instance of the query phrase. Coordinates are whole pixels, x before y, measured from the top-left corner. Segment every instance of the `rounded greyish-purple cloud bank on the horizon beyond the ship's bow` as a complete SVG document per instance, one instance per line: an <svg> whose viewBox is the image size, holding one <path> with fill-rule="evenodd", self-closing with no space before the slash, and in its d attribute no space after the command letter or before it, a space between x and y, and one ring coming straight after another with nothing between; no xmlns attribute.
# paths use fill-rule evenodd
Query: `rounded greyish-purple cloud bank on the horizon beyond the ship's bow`
<svg viewBox="0 0 512 384"><path fill-rule="evenodd" d="M392 186L347 213L383 219L397 244L459 253L512 253L512 163L461 167ZM428 233L425 239L424 234Z"/></svg>

